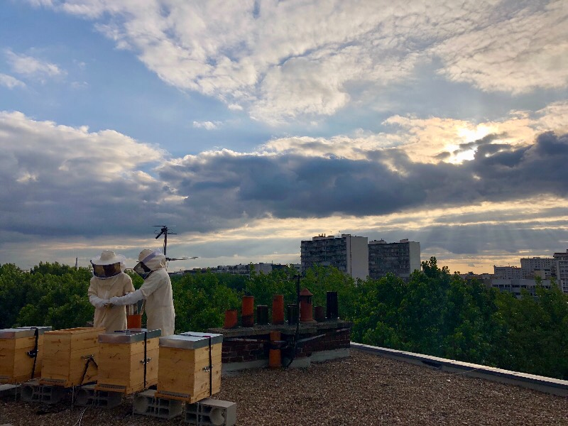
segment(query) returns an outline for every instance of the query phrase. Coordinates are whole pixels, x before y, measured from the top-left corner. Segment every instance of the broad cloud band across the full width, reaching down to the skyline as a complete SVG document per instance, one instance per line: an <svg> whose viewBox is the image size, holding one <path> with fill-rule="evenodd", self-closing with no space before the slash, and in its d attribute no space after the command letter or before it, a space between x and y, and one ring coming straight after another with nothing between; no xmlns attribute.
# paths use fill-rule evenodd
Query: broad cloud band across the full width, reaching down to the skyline
<svg viewBox="0 0 568 426"><path fill-rule="evenodd" d="M542 126L545 117L555 122L562 106L545 110L552 116L527 118L532 126ZM227 259L239 245L250 256L259 256L262 246L289 259L293 241L336 229L371 239L410 238L421 242L423 253L446 259L477 253L485 261L491 253L508 259L527 247L559 250L559 240L568 239L565 133L541 132L523 143L490 133L458 145L476 146L473 158L461 163L413 160L405 145L381 146L381 138L349 142L346 136L290 138L258 152L170 158L116 131L4 111L0 253L10 258L15 238L41 236L44 252L51 244L54 253L92 255L112 245L135 256L148 245L141 234L157 223L177 225L179 244L193 241L188 254L213 253L212 244L219 244ZM337 155L355 145L359 151ZM271 239L274 249L266 251Z"/></svg>

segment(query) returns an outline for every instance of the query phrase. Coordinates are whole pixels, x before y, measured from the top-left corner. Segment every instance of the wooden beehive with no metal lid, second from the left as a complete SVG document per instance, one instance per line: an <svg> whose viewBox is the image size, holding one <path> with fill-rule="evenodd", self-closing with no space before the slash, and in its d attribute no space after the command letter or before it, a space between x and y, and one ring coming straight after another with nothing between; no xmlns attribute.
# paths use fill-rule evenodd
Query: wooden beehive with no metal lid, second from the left
<svg viewBox="0 0 568 426"><path fill-rule="evenodd" d="M102 327L77 327L46 332L43 335L40 384L68 388L96 381L95 363L101 333L104 333Z"/></svg>

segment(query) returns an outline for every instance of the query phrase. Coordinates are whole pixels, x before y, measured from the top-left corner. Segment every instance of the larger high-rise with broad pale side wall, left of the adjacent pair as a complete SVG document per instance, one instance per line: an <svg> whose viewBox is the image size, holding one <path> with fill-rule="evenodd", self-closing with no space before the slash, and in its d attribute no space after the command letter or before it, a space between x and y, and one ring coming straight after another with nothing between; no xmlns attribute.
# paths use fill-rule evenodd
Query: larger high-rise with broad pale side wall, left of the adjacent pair
<svg viewBox="0 0 568 426"><path fill-rule="evenodd" d="M334 266L353 278L364 280L368 275L366 236L342 234L335 237L321 234L300 244L302 271L315 265Z"/></svg>

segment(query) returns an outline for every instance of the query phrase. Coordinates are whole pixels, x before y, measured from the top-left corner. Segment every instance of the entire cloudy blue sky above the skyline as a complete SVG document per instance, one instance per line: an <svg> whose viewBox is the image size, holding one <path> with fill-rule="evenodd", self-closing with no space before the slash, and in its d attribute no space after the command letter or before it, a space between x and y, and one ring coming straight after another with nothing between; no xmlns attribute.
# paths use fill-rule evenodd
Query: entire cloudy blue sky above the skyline
<svg viewBox="0 0 568 426"><path fill-rule="evenodd" d="M568 248L568 2L6 0L0 263Z"/></svg>

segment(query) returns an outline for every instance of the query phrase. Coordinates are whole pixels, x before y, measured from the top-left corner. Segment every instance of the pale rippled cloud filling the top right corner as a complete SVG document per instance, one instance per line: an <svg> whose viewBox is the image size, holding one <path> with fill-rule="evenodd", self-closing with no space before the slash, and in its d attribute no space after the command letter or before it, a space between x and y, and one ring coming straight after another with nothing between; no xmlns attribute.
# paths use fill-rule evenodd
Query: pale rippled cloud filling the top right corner
<svg viewBox="0 0 568 426"><path fill-rule="evenodd" d="M504 9L504 8L503 8ZM449 80L488 92L519 94L568 83L568 10L564 1L528 3L432 48ZM501 16L499 16L501 15Z"/></svg>

